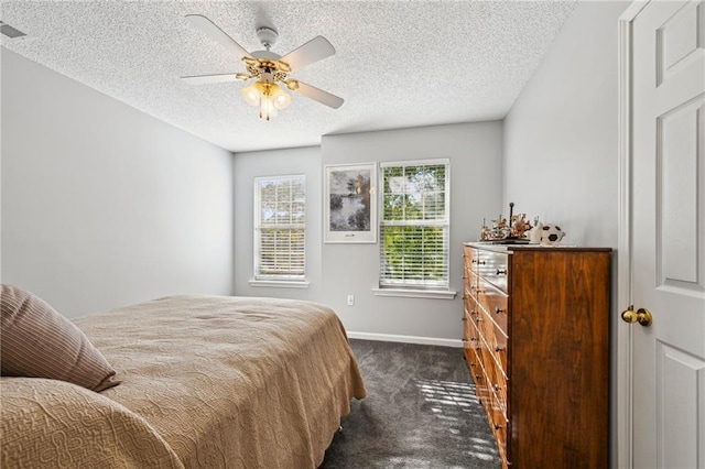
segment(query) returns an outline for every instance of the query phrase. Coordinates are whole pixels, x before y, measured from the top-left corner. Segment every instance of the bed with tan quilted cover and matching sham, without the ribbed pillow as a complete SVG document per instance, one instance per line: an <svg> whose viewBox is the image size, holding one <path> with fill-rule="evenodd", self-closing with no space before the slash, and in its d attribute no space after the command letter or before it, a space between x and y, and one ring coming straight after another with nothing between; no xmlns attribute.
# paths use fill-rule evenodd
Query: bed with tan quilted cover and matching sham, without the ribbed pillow
<svg viewBox="0 0 705 469"><path fill-rule="evenodd" d="M73 324L115 373L100 392L3 375L3 468L316 468L366 395L316 303L170 296Z"/></svg>

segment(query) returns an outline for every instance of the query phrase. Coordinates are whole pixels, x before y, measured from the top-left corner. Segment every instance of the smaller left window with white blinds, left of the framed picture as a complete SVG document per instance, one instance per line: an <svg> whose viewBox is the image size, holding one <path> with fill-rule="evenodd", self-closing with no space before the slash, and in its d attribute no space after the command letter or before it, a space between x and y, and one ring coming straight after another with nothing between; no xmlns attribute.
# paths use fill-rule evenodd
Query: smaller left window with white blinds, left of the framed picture
<svg viewBox="0 0 705 469"><path fill-rule="evenodd" d="M254 281L304 281L306 176L254 178Z"/></svg>

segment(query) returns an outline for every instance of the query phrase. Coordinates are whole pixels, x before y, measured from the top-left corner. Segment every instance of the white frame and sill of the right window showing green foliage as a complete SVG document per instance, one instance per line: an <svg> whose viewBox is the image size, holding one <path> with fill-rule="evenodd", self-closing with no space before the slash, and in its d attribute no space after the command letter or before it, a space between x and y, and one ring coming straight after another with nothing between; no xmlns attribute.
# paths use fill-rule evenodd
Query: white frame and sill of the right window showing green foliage
<svg viewBox="0 0 705 469"><path fill-rule="evenodd" d="M445 181L444 181L444 214L443 218L432 220L386 220L384 219L384 173L388 167L406 167L406 166L437 166L445 165ZM444 298L452 299L455 297L455 292L449 290L451 277L451 258L449 258L449 242L451 242L451 161L449 159L433 159L433 160L411 160L411 161L394 161L380 163L380 176L379 176L379 233L380 233L380 247L379 247L379 287L373 288L376 295L380 296L405 296L405 297L427 297L427 298ZM410 227L442 227L444 229L444 281L426 282L424 280L404 280L404 279L386 279L384 277L384 227L390 226L410 226Z"/></svg>

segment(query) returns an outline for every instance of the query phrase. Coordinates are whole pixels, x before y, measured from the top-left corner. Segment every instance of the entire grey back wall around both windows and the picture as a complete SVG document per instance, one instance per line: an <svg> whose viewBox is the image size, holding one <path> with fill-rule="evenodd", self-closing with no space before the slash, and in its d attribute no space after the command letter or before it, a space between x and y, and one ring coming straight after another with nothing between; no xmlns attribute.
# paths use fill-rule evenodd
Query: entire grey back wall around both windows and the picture
<svg viewBox="0 0 705 469"><path fill-rule="evenodd" d="M500 121L326 135L321 148L237 153L236 294L330 305L352 335L458 341L463 335L462 244L477 239L482 217L501 210L501 154ZM452 301L375 296L379 243L323 243L324 166L436 157L451 160L451 285L458 294ZM306 175L307 290L253 287L248 283L252 279L252 181L281 174ZM348 294L355 296L354 306L346 304Z"/></svg>

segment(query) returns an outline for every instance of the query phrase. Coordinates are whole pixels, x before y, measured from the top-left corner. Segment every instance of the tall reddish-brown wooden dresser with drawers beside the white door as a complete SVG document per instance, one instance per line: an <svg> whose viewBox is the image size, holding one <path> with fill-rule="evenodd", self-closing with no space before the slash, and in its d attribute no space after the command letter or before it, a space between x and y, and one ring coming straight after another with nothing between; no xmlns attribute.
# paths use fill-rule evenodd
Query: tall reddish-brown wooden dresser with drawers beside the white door
<svg viewBox="0 0 705 469"><path fill-rule="evenodd" d="M512 469L607 468L610 249L465 243L465 358Z"/></svg>

